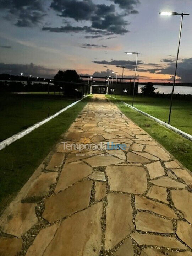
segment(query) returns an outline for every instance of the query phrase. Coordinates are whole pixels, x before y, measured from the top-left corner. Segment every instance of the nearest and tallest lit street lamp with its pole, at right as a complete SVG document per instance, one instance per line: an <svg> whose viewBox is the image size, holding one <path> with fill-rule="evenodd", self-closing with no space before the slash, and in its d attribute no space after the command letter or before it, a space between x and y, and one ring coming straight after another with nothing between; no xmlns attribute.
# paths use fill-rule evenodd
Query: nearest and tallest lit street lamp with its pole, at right
<svg viewBox="0 0 192 256"><path fill-rule="evenodd" d="M168 124L170 124L171 111L172 111L172 102L173 102L173 95L174 95L174 89L175 89L175 81L176 81L176 75L177 75L179 48L180 48L180 43L181 43L181 32L182 32L182 25L183 25L183 16L184 15L189 15L189 14L177 13L177 12L160 12L159 14L160 15L165 15L165 16L181 15L181 24L180 24L180 32L179 32L179 45L178 45L178 49L177 49L177 60L176 60L176 66L175 66L175 74L174 74L174 81L173 81L172 94L171 94L171 104L170 104L170 110L169 110Z"/></svg>

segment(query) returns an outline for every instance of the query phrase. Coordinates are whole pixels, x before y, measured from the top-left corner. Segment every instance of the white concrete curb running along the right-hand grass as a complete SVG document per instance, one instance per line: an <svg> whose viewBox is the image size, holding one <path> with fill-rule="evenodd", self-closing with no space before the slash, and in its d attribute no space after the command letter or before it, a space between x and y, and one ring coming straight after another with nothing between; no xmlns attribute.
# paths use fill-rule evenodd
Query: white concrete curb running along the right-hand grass
<svg viewBox="0 0 192 256"><path fill-rule="evenodd" d="M109 96L110 96L110 95L109 95ZM110 97L111 97L111 98L114 98L115 100L117 100L115 97L112 97L112 96L110 96ZM147 116L147 117L153 119L155 122L157 122L157 123L159 123L159 124L165 126L166 128L168 128L168 129L172 130L173 132L175 132L175 133L181 135L182 137L184 137L184 138L186 138L186 139L192 141L192 135L190 135L190 134L188 134L188 133L185 133L185 132L183 132L182 130L177 129L177 128L175 128L174 126L171 126L170 124L165 123L165 122L161 121L160 119L158 119L158 118L156 118L156 117L154 117L154 116L151 116L150 114L147 114L146 112L143 112L143 111L139 110L138 108L132 107L131 105L125 103L124 101L120 101L120 102L122 102L122 103L123 103L124 105L126 105L127 107L130 107L131 109L133 109L133 110L135 110L135 111L137 111L137 112L143 114L144 116Z"/></svg>

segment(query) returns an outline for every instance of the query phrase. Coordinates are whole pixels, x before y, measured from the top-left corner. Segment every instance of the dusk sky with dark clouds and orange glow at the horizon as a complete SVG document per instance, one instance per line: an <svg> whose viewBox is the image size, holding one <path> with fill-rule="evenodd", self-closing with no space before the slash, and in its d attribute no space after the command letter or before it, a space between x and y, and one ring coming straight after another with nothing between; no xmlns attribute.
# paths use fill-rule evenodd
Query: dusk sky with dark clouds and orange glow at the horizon
<svg viewBox="0 0 192 256"><path fill-rule="evenodd" d="M177 81L192 82L192 0L1 0L0 73L45 76L75 69L110 75L125 65L140 81L172 81L180 16L184 16Z"/></svg>

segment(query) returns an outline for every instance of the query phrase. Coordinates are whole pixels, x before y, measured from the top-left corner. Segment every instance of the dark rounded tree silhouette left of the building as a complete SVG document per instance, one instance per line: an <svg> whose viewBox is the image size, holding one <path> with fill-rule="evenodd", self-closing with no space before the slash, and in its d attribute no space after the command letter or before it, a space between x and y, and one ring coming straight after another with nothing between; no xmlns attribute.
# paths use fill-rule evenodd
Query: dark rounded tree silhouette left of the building
<svg viewBox="0 0 192 256"><path fill-rule="evenodd" d="M80 82L79 75L75 70L59 71L54 76L55 81Z"/></svg>

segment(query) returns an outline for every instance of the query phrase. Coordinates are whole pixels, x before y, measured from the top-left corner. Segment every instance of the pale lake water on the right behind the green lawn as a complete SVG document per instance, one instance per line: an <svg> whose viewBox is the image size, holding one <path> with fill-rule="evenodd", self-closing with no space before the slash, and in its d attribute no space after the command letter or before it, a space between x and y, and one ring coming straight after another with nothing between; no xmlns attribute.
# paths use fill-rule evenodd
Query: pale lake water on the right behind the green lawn
<svg viewBox="0 0 192 256"><path fill-rule="evenodd" d="M141 92L141 87L144 85L139 85L138 92ZM157 90L155 92L163 93L164 94L170 94L172 92L172 86L164 86L164 85L154 85ZM187 86L175 86L174 89L175 94L192 94L192 87L187 87Z"/></svg>

